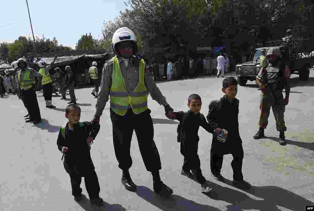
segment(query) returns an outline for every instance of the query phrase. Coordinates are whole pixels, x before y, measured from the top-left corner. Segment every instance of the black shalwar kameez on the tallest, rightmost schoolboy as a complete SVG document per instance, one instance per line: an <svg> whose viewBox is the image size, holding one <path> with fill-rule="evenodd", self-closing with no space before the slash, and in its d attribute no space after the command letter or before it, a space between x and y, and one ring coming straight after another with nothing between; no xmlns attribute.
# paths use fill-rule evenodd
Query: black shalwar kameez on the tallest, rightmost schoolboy
<svg viewBox="0 0 314 211"><path fill-rule="evenodd" d="M220 101L220 102L219 102ZM207 120L214 129L221 128L228 131L225 143L217 140L217 135L213 135L212 146L210 149L210 170L213 175L220 175L223 156L232 154L231 166L233 169L233 179L242 181L242 161L243 148L239 133L239 100L234 98L230 103L224 96L215 103L209 105ZM219 103L221 103L219 105Z"/></svg>

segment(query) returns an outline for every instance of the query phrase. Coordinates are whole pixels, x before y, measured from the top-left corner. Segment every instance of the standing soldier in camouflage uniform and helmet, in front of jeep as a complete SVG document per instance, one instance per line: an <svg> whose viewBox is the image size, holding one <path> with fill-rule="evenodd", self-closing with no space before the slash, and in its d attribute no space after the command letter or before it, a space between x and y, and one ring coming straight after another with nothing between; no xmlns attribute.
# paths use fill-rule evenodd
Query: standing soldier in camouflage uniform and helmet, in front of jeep
<svg viewBox="0 0 314 211"><path fill-rule="evenodd" d="M284 62L280 61L281 54L279 48L270 48L266 55L269 65L262 68L256 77L256 84L261 88L260 109L261 114L259 118L259 130L253 136L254 139L264 137L264 129L268 124L268 117L270 107L272 107L273 114L276 120L276 129L280 132L279 144L286 145L284 131L287 130L284 123L285 106L289 103L290 94L290 70ZM282 90L285 88L285 98Z"/></svg>

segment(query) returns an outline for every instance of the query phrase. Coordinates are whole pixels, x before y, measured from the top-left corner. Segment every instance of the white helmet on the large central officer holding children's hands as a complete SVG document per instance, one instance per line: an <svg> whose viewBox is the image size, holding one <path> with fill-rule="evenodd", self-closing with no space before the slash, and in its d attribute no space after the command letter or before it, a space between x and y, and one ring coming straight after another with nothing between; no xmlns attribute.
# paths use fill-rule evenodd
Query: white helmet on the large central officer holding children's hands
<svg viewBox="0 0 314 211"><path fill-rule="evenodd" d="M137 52L137 40L135 37L135 34L133 31L127 27L122 27L120 29L117 29L115 33L112 36L112 45L113 45L113 51L115 54L117 54L115 46L117 43L125 42L125 41L133 41L134 47L133 47L133 54L136 54Z"/></svg>

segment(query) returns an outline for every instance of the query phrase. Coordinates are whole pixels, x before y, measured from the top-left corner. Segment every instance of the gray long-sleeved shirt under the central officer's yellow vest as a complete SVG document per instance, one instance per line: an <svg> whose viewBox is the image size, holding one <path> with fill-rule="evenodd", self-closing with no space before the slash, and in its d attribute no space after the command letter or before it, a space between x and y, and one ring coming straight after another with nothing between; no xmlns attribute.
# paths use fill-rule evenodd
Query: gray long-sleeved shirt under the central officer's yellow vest
<svg viewBox="0 0 314 211"><path fill-rule="evenodd" d="M139 80L138 66L132 64L132 59L129 61L128 66L125 65L123 60L118 57L122 76L125 81L125 86L128 91L133 91ZM98 93L98 99L96 103L95 115L101 116L109 99L110 88L112 85L112 72L113 72L113 59L106 62L102 70L101 85ZM145 71L144 83L150 96L153 100L156 100L160 105L168 105L166 98L162 95L156 83L154 82L153 76L149 71ZM129 105L129 108L131 106Z"/></svg>

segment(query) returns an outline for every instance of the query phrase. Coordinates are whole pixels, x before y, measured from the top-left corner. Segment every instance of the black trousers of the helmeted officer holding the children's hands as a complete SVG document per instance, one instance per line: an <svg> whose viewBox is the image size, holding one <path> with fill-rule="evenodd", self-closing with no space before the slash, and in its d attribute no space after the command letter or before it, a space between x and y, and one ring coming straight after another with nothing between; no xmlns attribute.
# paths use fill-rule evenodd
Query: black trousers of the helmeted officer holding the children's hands
<svg viewBox="0 0 314 211"><path fill-rule="evenodd" d="M154 126L150 112L147 109L142 113L134 114L130 108L124 116L120 116L110 109L113 146L120 169L128 170L132 166L130 147L133 130L135 130L139 150L147 171L154 172L161 169L159 152L154 142Z"/></svg>

